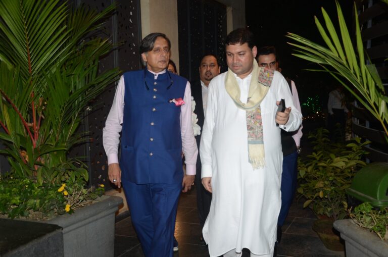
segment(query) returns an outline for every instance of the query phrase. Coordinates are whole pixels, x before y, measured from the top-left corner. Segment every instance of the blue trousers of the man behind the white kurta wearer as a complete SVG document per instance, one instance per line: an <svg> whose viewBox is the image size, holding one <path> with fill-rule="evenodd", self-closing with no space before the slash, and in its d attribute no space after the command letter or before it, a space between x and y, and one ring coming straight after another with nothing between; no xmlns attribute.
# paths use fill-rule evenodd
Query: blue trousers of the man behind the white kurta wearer
<svg viewBox="0 0 388 257"><path fill-rule="evenodd" d="M288 210L293 203L297 189L298 152L283 157L283 171L281 173L281 208L277 225L283 226Z"/></svg>

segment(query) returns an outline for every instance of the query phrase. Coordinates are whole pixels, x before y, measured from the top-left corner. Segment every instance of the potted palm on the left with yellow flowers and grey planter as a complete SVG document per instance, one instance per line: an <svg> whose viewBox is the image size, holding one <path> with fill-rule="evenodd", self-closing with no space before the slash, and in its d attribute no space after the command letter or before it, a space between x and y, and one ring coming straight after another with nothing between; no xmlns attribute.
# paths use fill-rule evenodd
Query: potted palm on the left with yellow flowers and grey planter
<svg viewBox="0 0 388 257"><path fill-rule="evenodd" d="M107 220L90 224L97 219L86 217L92 211L76 209L101 195L103 187L87 189L85 164L68 153L87 140L77 128L88 102L118 76L117 69L99 72L99 59L112 44L93 34L114 8L98 13L70 10L59 0L0 1L0 144L5 147L0 153L11 166L0 177L0 215L37 217L64 227L66 256L113 254L113 239L104 249L106 243L91 228L114 238L114 213L122 200L106 197L93 204Z"/></svg>

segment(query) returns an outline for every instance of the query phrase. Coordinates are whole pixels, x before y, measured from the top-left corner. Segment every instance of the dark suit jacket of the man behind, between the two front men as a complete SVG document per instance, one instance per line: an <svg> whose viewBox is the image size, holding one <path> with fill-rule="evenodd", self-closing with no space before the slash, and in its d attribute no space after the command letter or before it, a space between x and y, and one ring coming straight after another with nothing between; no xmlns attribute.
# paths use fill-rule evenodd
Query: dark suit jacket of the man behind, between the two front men
<svg viewBox="0 0 388 257"><path fill-rule="evenodd" d="M194 113L197 114L198 122L197 124L201 127L201 134L196 136L198 150L200 149L202 128L204 126L205 114L204 114L204 105L202 102L202 86L201 81L195 81L191 83L191 96L196 101L196 108ZM197 157L197 170L201 170L201 159L200 153L198 153Z"/></svg>

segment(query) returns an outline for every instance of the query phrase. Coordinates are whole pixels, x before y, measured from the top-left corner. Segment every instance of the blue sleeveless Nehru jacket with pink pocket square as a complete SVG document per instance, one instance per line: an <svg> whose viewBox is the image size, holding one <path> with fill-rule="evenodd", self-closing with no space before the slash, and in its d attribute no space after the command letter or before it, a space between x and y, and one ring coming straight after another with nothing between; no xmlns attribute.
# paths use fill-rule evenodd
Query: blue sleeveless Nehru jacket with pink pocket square
<svg viewBox="0 0 388 257"><path fill-rule="evenodd" d="M181 183L181 111L170 100L183 99L187 80L168 71L155 79L148 70L139 70L124 73L124 82L122 180Z"/></svg>

